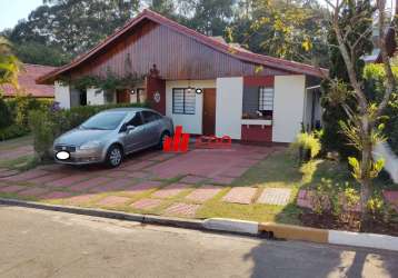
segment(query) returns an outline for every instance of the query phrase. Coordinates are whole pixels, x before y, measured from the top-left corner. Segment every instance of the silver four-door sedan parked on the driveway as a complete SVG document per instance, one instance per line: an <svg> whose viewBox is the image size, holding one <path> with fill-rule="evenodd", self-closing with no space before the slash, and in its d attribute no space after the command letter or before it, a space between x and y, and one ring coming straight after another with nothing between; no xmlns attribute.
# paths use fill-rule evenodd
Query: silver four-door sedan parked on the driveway
<svg viewBox="0 0 398 278"><path fill-rule="evenodd" d="M59 163L118 167L126 155L161 147L172 133L172 120L151 109L110 109L57 138L53 153Z"/></svg>

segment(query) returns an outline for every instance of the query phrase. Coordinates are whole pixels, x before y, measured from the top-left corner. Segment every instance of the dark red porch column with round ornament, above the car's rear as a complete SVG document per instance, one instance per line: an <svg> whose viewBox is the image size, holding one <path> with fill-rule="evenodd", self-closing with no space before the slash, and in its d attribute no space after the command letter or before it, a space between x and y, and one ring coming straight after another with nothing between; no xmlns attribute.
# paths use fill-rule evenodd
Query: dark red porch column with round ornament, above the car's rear
<svg viewBox="0 0 398 278"><path fill-rule="evenodd" d="M147 76L146 83L149 107L161 115L166 115L166 80L160 78L156 64Z"/></svg>

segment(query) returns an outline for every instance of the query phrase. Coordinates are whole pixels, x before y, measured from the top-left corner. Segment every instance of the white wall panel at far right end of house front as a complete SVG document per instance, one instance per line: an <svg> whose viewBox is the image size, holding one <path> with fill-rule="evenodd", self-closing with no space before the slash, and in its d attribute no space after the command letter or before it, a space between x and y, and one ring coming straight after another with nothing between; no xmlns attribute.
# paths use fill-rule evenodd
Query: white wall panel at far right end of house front
<svg viewBox="0 0 398 278"><path fill-rule="evenodd" d="M306 99L305 76L276 76L272 141L292 142L301 130Z"/></svg>

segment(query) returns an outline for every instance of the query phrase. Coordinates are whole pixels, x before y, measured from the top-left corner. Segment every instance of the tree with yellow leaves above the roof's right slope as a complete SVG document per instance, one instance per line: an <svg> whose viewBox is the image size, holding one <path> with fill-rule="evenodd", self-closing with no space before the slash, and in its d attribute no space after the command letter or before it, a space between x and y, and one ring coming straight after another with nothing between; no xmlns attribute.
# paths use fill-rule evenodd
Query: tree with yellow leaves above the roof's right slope
<svg viewBox="0 0 398 278"><path fill-rule="evenodd" d="M328 64L326 10L317 1L241 0L238 7L232 29L239 43L268 56Z"/></svg>

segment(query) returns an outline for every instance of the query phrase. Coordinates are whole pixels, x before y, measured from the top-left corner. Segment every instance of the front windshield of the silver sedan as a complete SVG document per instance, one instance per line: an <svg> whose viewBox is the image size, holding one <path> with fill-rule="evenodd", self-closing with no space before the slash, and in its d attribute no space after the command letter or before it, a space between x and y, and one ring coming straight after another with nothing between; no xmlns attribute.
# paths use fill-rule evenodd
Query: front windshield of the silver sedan
<svg viewBox="0 0 398 278"><path fill-rule="evenodd" d="M98 113L87 121L80 128L82 129L99 129L99 130L113 130L126 118L127 112L102 112Z"/></svg>

